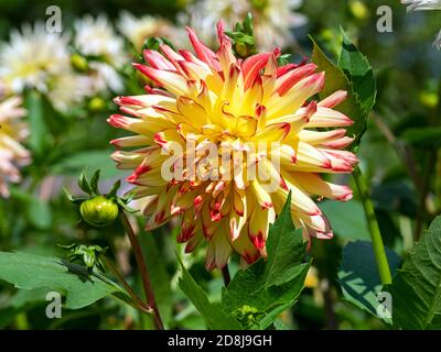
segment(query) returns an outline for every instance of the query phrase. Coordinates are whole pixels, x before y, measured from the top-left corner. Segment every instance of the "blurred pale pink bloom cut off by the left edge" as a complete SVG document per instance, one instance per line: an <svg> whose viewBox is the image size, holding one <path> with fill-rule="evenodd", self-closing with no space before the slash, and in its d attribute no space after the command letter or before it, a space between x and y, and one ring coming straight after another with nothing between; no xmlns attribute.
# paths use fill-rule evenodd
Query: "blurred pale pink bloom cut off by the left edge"
<svg viewBox="0 0 441 352"><path fill-rule="evenodd" d="M20 182L18 166L30 161L30 153L21 144L29 130L20 121L25 114L21 108L21 98L12 97L7 100L0 97L0 196L8 197L8 183Z"/></svg>

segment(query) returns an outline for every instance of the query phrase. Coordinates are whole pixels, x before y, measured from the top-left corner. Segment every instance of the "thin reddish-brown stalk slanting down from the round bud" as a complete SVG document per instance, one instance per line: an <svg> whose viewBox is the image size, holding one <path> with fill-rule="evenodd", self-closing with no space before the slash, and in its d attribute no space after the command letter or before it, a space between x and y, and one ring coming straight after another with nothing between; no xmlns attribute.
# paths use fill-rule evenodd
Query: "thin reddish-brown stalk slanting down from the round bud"
<svg viewBox="0 0 441 352"><path fill-rule="evenodd" d="M147 302L148 302L149 307L151 307L153 309L154 326L157 327L158 330L164 330L164 326L162 323L162 319L159 314L157 299L154 298L153 288L152 288L152 285L150 282L149 271L147 270L146 260L144 260L144 256L142 255L141 246L139 245L137 235L135 234L135 231L131 228L131 224L130 224L129 219L127 218L126 213L123 211L121 211L119 217L120 217L122 226L126 229L127 235L129 237L131 248L133 249L135 260L137 261L139 271L141 273L142 285L144 288Z"/></svg>

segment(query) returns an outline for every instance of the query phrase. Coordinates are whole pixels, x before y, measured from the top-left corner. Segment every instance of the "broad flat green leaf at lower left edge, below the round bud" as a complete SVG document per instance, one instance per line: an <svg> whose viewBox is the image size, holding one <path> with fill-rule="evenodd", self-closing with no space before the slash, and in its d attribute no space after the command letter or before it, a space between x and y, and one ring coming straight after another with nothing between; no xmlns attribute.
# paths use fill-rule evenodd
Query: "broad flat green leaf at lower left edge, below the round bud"
<svg viewBox="0 0 441 352"><path fill-rule="evenodd" d="M47 288L66 296L67 309L79 309L106 297L129 300L116 284L79 265L56 257L0 252L0 278L21 289Z"/></svg>

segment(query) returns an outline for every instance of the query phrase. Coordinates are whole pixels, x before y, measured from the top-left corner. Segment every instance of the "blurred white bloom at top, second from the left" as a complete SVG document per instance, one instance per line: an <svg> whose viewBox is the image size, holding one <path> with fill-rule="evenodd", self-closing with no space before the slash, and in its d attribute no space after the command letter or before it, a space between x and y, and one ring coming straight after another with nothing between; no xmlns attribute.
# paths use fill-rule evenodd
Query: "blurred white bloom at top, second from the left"
<svg viewBox="0 0 441 352"><path fill-rule="evenodd" d="M126 62L123 41L103 14L94 19L86 15L74 24L75 46L87 56L97 56L108 64L120 67Z"/></svg>

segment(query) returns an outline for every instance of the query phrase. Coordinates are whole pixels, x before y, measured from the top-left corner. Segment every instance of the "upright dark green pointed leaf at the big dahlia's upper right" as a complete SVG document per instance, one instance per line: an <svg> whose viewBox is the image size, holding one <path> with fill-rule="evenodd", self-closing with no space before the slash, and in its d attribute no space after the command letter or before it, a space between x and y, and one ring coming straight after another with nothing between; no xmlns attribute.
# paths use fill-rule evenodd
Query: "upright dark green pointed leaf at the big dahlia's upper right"
<svg viewBox="0 0 441 352"><path fill-rule="evenodd" d="M342 28L340 30L343 35L343 44L338 67L351 81L355 97L367 117L374 107L377 95L374 72L366 56L358 51L344 30Z"/></svg>

